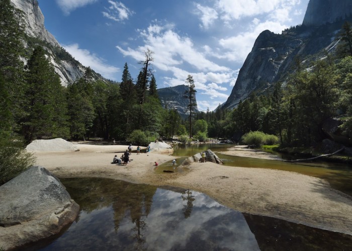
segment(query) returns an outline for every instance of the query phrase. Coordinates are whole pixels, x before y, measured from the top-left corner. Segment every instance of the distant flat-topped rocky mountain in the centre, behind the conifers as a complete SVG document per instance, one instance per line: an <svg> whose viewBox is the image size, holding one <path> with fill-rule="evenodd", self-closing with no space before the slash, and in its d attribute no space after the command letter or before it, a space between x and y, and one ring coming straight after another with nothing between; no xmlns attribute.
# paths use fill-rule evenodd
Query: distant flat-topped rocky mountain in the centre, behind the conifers
<svg viewBox="0 0 352 251"><path fill-rule="evenodd" d="M184 98L187 90L188 87L186 85L158 89L158 96L162 107L168 109L176 108L184 118L190 115L190 112L186 111L189 101ZM196 100L195 102L197 103ZM198 108L195 109L195 112L198 112Z"/></svg>

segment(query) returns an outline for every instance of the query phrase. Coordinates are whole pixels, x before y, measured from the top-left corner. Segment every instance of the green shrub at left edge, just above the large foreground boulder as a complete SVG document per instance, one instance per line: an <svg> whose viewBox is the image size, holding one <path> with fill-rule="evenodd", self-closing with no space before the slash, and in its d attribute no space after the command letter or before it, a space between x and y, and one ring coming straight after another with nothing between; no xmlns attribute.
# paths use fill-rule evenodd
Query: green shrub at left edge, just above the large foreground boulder
<svg viewBox="0 0 352 251"><path fill-rule="evenodd" d="M35 163L33 154L22 143L11 139L0 141L0 186L15 178Z"/></svg>

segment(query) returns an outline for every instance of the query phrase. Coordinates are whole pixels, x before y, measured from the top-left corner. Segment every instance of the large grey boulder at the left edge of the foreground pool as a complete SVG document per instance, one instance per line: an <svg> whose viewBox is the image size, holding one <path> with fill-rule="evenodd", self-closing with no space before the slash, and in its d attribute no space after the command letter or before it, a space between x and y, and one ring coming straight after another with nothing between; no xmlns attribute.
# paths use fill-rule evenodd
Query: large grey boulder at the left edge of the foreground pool
<svg viewBox="0 0 352 251"><path fill-rule="evenodd" d="M57 234L79 206L61 182L33 166L0 187L0 247L12 249Z"/></svg>

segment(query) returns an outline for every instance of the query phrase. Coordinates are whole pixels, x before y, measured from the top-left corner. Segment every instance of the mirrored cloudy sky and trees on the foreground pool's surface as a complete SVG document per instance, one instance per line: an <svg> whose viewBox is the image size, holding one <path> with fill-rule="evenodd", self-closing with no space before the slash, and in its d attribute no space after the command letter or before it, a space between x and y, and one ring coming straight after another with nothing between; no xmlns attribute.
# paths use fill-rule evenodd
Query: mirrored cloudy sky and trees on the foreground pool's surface
<svg viewBox="0 0 352 251"><path fill-rule="evenodd" d="M41 250L259 250L244 216L204 194L107 179L62 183L79 217Z"/></svg>

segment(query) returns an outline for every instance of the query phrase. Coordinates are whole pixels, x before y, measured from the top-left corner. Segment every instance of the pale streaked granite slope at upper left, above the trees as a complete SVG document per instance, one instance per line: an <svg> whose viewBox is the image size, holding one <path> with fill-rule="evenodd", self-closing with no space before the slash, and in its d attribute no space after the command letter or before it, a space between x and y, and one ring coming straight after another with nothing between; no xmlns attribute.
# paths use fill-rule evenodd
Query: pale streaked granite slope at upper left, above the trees
<svg viewBox="0 0 352 251"><path fill-rule="evenodd" d="M27 47L33 49L40 44L46 49L56 73L60 76L61 85L67 86L68 83L80 78L85 67L64 51L54 36L45 29L44 16L37 0L11 0L11 3L24 13ZM99 74L97 77L102 78Z"/></svg>

